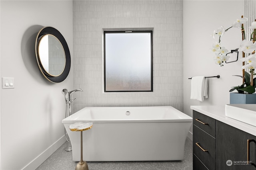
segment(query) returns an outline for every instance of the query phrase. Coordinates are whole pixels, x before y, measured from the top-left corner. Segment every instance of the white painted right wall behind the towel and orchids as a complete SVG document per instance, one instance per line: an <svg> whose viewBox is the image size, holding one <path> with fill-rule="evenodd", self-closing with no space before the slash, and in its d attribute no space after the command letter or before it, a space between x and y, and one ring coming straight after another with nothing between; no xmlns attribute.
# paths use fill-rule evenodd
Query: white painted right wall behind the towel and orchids
<svg viewBox="0 0 256 170"><path fill-rule="evenodd" d="M224 64L220 67L213 61L209 51L214 39L214 29L232 26L232 22L244 15L244 0L184 0L183 2L183 111L192 116L192 105L229 104L229 90L242 84L242 62ZM217 40L216 40L217 41ZM236 49L242 41L240 29L231 28L222 36L221 43L227 49ZM241 56L239 57L241 58ZM231 61L232 59L230 59ZM192 76L216 76L208 78L209 98L204 102L190 100ZM190 129L192 133L192 128Z"/></svg>

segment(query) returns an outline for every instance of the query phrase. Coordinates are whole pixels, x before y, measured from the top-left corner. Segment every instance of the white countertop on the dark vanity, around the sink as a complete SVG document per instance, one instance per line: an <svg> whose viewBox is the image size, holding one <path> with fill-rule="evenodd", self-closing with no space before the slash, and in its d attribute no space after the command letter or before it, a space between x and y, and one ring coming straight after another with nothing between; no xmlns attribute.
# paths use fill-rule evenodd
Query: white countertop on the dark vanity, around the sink
<svg viewBox="0 0 256 170"><path fill-rule="evenodd" d="M190 106L190 109L256 136L255 126L226 117L225 106Z"/></svg>

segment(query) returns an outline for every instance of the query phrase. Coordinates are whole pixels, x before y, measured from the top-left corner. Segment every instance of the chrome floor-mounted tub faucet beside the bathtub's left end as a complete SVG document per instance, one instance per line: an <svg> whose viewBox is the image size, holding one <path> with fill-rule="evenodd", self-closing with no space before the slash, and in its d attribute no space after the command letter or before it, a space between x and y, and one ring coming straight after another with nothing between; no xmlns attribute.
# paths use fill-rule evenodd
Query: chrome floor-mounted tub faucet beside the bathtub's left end
<svg viewBox="0 0 256 170"><path fill-rule="evenodd" d="M68 90L65 88L62 90L62 93L64 94L65 100L66 100L66 115L65 118L71 115L71 103L76 99L76 98L72 98L72 94L74 94L74 92L83 92L82 89L76 89L76 90L72 90L70 92L68 92ZM64 128L65 129L65 128ZM72 146L70 143L70 139L69 136L66 132L65 129L65 136L66 136L66 140L68 141L68 147L65 149L66 151L71 151L72 150Z"/></svg>

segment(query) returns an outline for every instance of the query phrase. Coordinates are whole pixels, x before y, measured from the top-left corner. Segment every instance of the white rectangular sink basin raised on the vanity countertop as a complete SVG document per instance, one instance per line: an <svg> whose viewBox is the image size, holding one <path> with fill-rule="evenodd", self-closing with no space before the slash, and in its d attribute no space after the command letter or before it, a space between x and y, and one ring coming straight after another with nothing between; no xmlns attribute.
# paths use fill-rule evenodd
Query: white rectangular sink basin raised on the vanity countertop
<svg viewBox="0 0 256 170"><path fill-rule="evenodd" d="M256 104L226 104L225 115L256 126Z"/></svg>

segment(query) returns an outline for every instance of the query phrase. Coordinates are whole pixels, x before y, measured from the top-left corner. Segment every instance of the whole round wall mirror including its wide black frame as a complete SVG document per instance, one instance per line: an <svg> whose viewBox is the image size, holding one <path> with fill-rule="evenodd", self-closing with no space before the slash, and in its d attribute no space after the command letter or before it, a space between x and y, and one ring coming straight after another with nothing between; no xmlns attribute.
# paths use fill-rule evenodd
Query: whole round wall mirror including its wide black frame
<svg viewBox="0 0 256 170"><path fill-rule="evenodd" d="M53 27L42 28L36 37L36 60L46 79L59 83L70 71L70 51L62 34Z"/></svg>

